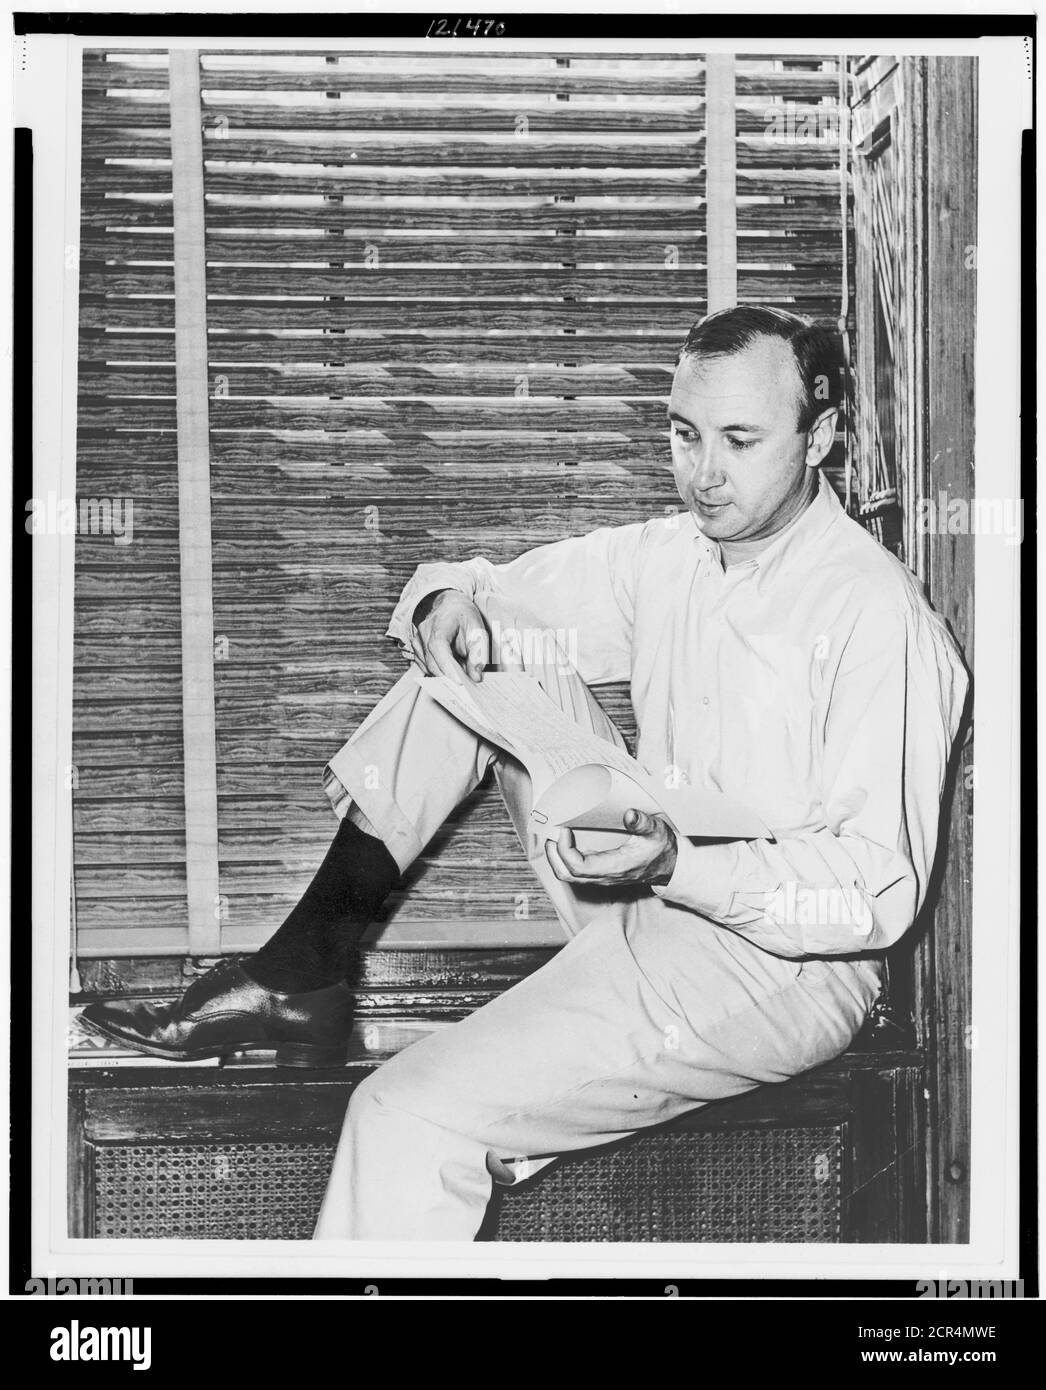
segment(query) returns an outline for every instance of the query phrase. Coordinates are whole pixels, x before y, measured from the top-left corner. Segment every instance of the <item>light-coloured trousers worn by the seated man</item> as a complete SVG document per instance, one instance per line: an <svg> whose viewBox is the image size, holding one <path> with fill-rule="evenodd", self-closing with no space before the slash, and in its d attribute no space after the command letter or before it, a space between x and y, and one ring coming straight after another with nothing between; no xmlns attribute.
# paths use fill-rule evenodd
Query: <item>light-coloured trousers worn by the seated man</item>
<svg viewBox="0 0 1046 1390"><path fill-rule="evenodd" d="M503 631L540 627L500 600L479 603ZM565 659L526 655L564 710L622 744ZM878 995L875 960L783 959L647 890L611 899L560 883L526 828L525 770L413 674L331 759L326 785L338 813L378 834L406 869L492 763L570 940L356 1088L317 1240L472 1240L492 1182L524 1180L565 1151L831 1061Z"/></svg>

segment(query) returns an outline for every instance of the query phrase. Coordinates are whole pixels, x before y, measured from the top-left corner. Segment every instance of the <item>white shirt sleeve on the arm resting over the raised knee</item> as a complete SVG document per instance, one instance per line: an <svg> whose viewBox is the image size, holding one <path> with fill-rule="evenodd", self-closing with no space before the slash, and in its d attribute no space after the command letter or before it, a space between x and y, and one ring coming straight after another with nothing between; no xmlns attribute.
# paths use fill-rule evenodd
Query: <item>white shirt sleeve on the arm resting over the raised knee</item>
<svg viewBox="0 0 1046 1390"><path fill-rule="evenodd" d="M601 527L538 546L507 564L493 564L483 556L422 564L396 605L388 635L408 645L414 610L438 589L457 589L471 599L496 595L564 634L589 684L628 680L645 530L643 523Z"/></svg>

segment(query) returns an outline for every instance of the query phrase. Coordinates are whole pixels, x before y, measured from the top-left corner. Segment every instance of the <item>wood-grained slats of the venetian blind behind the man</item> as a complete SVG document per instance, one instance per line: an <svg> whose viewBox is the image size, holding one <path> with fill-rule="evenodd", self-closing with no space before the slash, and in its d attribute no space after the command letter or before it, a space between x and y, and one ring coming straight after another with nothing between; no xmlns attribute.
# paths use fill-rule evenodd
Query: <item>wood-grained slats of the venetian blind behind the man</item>
<svg viewBox="0 0 1046 1390"><path fill-rule="evenodd" d="M403 670L417 563L675 509L664 410L708 288L702 54L199 56L219 892L193 935L168 70L85 54L78 491L135 505L132 543L78 545L85 955L268 935L332 834L324 760ZM835 64L732 79L738 299L835 324ZM558 940L496 799L383 941Z"/></svg>

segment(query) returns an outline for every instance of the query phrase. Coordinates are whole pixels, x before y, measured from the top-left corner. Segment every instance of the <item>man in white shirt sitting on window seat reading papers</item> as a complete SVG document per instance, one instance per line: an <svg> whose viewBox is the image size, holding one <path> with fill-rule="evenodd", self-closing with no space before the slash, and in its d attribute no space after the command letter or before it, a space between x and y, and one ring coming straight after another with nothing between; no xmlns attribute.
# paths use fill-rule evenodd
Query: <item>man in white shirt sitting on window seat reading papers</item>
<svg viewBox="0 0 1046 1390"><path fill-rule="evenodd" d="M867 1017L925 898L967 677L820 473L838 400L827 332L756 306L707 317L670 402L685 513L422 566L389 628L453 680L504 655L492 632L568 632L572 660L524 660L546 692L621 742L588 687L631 681L647 771L746 802L772 838L692 842L636 812L621 848L546 845L525 771L407 674L331 759L339 837L263 951L168 1011L93 1006L156 1055L268 1038L289 1065L335 1061L339 952L493 764L570 941L357 1087L319 1238L472 1238L492 1182L827 1062Z"/></svg>

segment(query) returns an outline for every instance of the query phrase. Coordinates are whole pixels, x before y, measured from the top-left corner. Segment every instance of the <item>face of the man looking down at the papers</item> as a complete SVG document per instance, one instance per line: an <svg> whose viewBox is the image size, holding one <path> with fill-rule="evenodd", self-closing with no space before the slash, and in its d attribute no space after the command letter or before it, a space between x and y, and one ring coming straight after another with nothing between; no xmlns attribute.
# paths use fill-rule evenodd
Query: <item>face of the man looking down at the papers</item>
<svg viewBox="0 0 1046 1390"><path fill-rule="evenodd" d="M800 400L795 356L779 338L757 338L729 357L679 363L668 403L672 471L711 539L770 538L810 500L813 467L827 443L799 432Z"/></svg>

